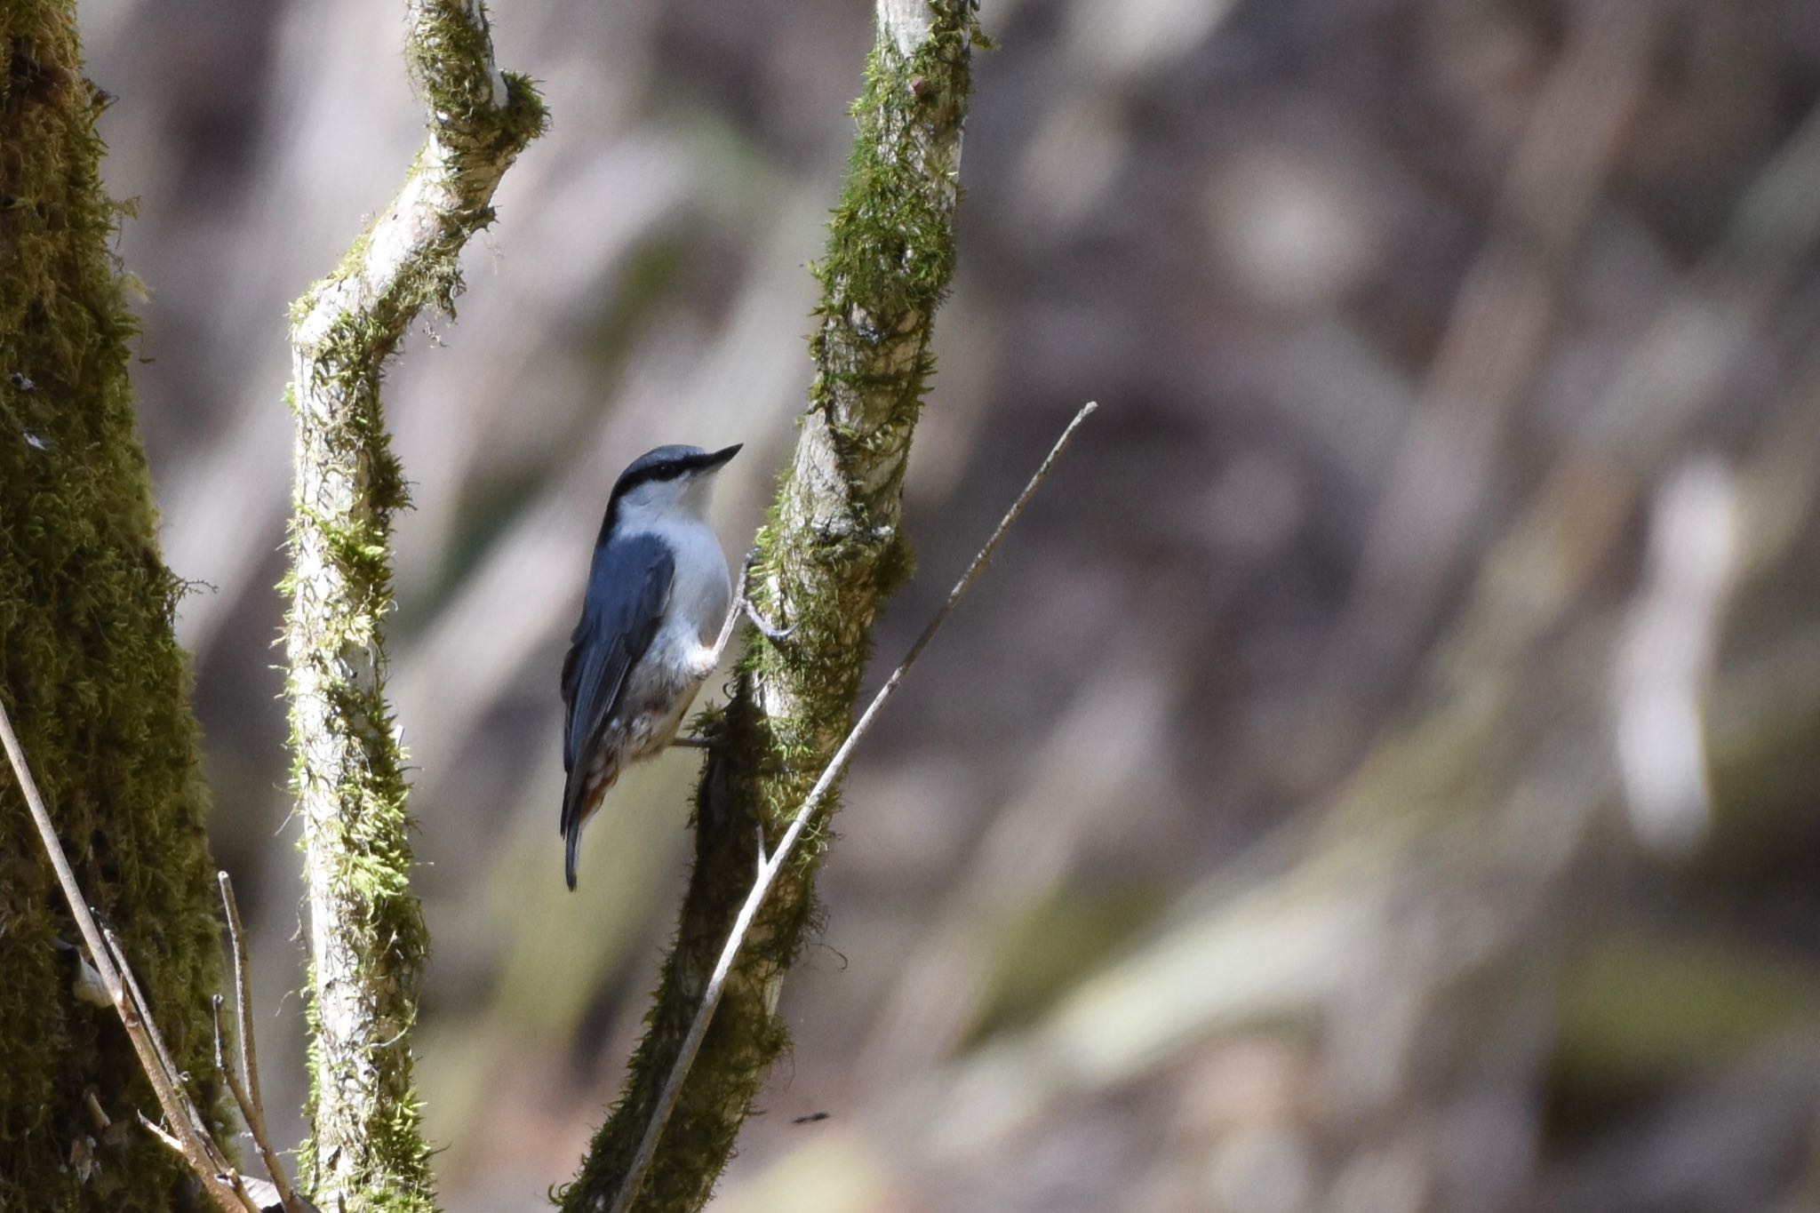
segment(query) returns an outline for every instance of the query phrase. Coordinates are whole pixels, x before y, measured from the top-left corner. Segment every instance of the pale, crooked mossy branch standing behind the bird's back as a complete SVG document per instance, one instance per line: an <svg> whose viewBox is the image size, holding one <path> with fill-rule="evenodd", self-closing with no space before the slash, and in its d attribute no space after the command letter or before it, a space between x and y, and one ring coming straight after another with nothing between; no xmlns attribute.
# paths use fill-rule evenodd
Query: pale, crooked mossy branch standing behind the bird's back
<svg viewBox="0 0 1820 1213"><path fill-rule="evenodd" d="M391 513L406 491L379 384L411 320L451 309L462 246L493 220L493 189L546 122L530 82L495 67L479 0L410 0L406 13L428 138L399 196L298 300L291 326L286 647L313 1069L304 1164L318 1202L346 1209L433 1208L410 1049L426 944L384 697Z"/></svg>

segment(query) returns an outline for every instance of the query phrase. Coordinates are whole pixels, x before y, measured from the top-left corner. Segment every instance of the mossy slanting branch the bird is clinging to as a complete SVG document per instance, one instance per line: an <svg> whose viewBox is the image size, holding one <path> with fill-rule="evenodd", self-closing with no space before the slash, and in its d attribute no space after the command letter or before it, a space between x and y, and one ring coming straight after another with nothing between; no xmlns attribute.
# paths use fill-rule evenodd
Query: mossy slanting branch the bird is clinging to
<svg viewBox="0 0 1820 1213"><path fill-rule="evenodd" d="M854 109L859 135L815 267L823 298L810 342L812 400L759 535L753 598L764 617L795 631L779 646L753 646L715 722L719 744L697 791L695 867L677 942L626 1089L562 1195L571 1213L610 1208L632 1173L752 887L761 835L766 847L783 837L835 755L852 722L872 620L908 573L903 473L932 369L935 307L954 269L961 124L979 31L974 0L879 0L877 18L866 91ZM788 1044L777 993L806 942L824 842L821 826L808 831L753 917L635 1209L693 1211L713 1191Z"/></svg>

